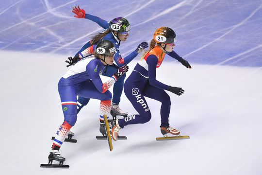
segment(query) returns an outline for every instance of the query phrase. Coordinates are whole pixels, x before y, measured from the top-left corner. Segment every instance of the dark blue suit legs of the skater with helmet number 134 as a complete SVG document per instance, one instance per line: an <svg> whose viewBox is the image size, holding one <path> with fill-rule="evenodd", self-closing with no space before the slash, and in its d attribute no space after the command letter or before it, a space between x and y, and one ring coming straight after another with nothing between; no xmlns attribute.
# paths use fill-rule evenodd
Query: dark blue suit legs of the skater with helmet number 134
<svg viewBox="0 0 262 175"><path fill-rule="evenodd" d="M118 68L113 67L113 66L108 66L106 68L107 68L106 70L103 70L102 75L108 76L108 77L112 77L114 75L114 73L117 72L117 70L118 70ZM124 88L125 78L126 78L126 74L124 74L123 76L118 78L118 80L114 84L114 88L113 88L114 96L113 96L113 99L112 99L112 103L114 103L114 104L120 103L120 98L121 98L122 91L123 91L123 88ZM77 113L79 113L79 111L82 109L83 106L88 104L89 100L90 100L89 98L85 98L84 96L78 97L77 101L81 105L78 105Z"/></svg>

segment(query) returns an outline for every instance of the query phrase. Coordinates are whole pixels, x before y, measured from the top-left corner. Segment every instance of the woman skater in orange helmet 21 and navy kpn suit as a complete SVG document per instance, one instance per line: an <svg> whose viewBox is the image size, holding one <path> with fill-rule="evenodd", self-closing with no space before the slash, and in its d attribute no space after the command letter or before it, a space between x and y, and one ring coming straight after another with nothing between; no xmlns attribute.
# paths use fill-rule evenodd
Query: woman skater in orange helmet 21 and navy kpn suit
<svg viewBox="0 0 262 175"><path fill-rule="evenodd" d="M116 120L112 128L112 137L117 140L121 128L129 124L146 123L151 119L151 112L145 97L157 100L161 105L161 132L179 135L180 131L169 126L168 118L170 113L170 97L164 91L168 90L181 95L182 88L167 86L156 80L156 68L159 68L164 60L165 54L180 61L186 68L191 68L189 63L173 51L176 41L175 32L168 27L161 27L154 33L150 48L142 60L138 62L131 75L125 82L124 91L131 104L134 106L137 115L131 115L125 119Z"/></svg>

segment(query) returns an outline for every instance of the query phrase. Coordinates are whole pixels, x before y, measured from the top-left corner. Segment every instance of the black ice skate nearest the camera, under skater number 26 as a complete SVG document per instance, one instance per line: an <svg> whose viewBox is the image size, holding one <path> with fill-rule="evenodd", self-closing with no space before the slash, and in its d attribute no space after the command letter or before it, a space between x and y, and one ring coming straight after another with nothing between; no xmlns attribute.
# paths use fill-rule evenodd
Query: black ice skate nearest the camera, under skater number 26
<svg viewBox="0 0 262 175"><path fill-rule="evenodd" d="M66 161L65 157L62 157L58 150L51 150L48 157L48 164L41 164L42 168L69 168L69 165L64 165L64 161ZM53 160L59 162L59 164L52 164Z"/></svg>

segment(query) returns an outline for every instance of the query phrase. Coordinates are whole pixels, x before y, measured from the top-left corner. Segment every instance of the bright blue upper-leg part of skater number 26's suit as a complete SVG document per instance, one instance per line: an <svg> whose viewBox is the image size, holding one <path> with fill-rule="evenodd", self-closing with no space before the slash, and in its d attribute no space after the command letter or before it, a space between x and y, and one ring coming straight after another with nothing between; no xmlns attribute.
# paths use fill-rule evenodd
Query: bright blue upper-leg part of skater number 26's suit
<svg viewBox="0 0 262 175"><path fill-rule="evenodd" d="M97 90L92 80L86 80L81 85L71 85L70 80L61 78L58 83L58 91L61 98L62 109L65 117L65 122L71 126L77 121L77 95L84 98L98 99L107 101L112 99L112 94L109 90L101 93Z"/></svg>

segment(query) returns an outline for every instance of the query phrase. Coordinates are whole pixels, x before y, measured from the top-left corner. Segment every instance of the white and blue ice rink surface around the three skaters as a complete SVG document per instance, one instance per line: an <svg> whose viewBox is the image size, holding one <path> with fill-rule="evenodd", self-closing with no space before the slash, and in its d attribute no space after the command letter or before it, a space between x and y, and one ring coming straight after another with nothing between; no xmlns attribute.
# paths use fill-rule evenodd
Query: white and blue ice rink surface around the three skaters
<svg viewBox="0 0 262 175"><path fill-rule="evenodd" d="M262 175L262 0L0 2L2 175ZM120 130L128 140L113 142L110 152L106 140L95 138L99 101L90 100L72 128L78 142L61 148L70 168L40 168L64 118L57 84L68 70L65 60L102 31L73 18L73 5L108 21L130 21L123 56L150 41L156 28L175 30L174 50L192 69L167 55L157 79L185 90L168 92L169 123L191 139L156 141L161 104L147 99L151 121ZM137 113L124 93L120 107Z"/></svg>

